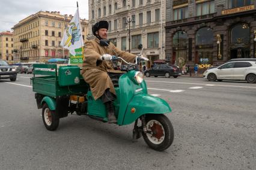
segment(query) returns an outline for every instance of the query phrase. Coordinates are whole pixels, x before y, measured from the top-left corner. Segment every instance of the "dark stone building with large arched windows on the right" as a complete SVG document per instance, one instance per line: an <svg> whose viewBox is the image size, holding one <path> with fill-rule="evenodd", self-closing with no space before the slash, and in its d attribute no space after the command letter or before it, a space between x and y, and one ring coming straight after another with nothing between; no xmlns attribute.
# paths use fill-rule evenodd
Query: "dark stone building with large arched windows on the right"
<svg viewBox="0 0 256 170"><path fill-rule="evenodd" d="M166 1L166 58L199 68L255 58L256 1Z"/></svg>

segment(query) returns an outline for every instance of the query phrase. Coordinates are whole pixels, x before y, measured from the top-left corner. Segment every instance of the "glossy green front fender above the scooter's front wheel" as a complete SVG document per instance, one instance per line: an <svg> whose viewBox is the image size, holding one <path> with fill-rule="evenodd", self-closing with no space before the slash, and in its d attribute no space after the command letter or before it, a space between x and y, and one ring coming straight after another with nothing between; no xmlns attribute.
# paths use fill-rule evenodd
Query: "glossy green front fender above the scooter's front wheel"
<svg viewBox="0 0 256 170"><path fill-rule="evenodd" d="M134 113L132 113L132 108L135 108ZM135 122L135 120L143 114L165 114L170 112L171 107L169 107L169 104L165 100L141 93L133 96L132 100L129 102L123 125L129 125Z"/></svg>

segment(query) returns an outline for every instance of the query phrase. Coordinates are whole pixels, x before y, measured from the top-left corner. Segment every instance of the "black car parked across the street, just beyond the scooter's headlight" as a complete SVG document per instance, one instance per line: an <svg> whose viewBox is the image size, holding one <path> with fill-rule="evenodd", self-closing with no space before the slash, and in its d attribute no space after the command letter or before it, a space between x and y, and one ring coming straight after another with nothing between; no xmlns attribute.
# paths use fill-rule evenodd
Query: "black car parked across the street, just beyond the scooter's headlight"
<svg viewBox="0 0 256 170"><path fill-rule="evenodd" d="M144 74L146 77L150 76L164 76L164 77L174 77L177 78L182 73L178 70L177 66L168 65L168 64L161 64L161 65L154 65L152 68L147 69Z"/></svg>

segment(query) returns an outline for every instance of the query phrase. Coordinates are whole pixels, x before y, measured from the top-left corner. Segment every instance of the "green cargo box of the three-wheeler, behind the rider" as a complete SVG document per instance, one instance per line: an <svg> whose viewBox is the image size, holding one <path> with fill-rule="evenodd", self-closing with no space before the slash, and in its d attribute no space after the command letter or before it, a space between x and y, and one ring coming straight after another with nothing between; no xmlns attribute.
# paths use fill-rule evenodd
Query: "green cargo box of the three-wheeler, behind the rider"
<svg viewBox="0 0 256 170"><path fill-rule="evenodd" d="M61 70L60 72L65 72L63 70L72 71L74 68L74 66L65 67L66 68L63 69L62 66L60 66L58 69ZM76 74L76 81L78 80L77 77L79 77L79 83L77 83L77 85L69 83L71 80L70 77L68 77L67 81L63 80L64 77L62 77L61 82L59 82L56 64L34 64L34 77L31 78L33 92L52 98L56 98L56 96L87 93L89 89L88 84L85 83L80 72L76 72Z"/></svg>

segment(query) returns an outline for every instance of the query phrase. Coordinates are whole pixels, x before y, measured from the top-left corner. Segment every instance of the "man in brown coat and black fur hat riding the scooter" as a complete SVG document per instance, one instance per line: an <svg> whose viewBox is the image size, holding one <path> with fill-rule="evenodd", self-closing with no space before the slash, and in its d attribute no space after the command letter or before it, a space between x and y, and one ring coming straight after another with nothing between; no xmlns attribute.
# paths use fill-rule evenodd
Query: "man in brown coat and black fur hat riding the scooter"
<svg viewBox="0 0 256 170"><path fill-rule="evenodd" d="M108 22L97 22L93 28L94 40L85 42L84 62L82 76L90 85L94 100L101 99L108 111L108 122L116 123L117 119L114 114L114 106L112 102L115 100L114 84L109 77L108 72L113 70L111 60L115 55L123 58L127 62L135 62L137 56L121 51L114 44L109 43L109 46L101 46L100 40L108 38ZM142 57L144 60L148 60Z"/></svg>

